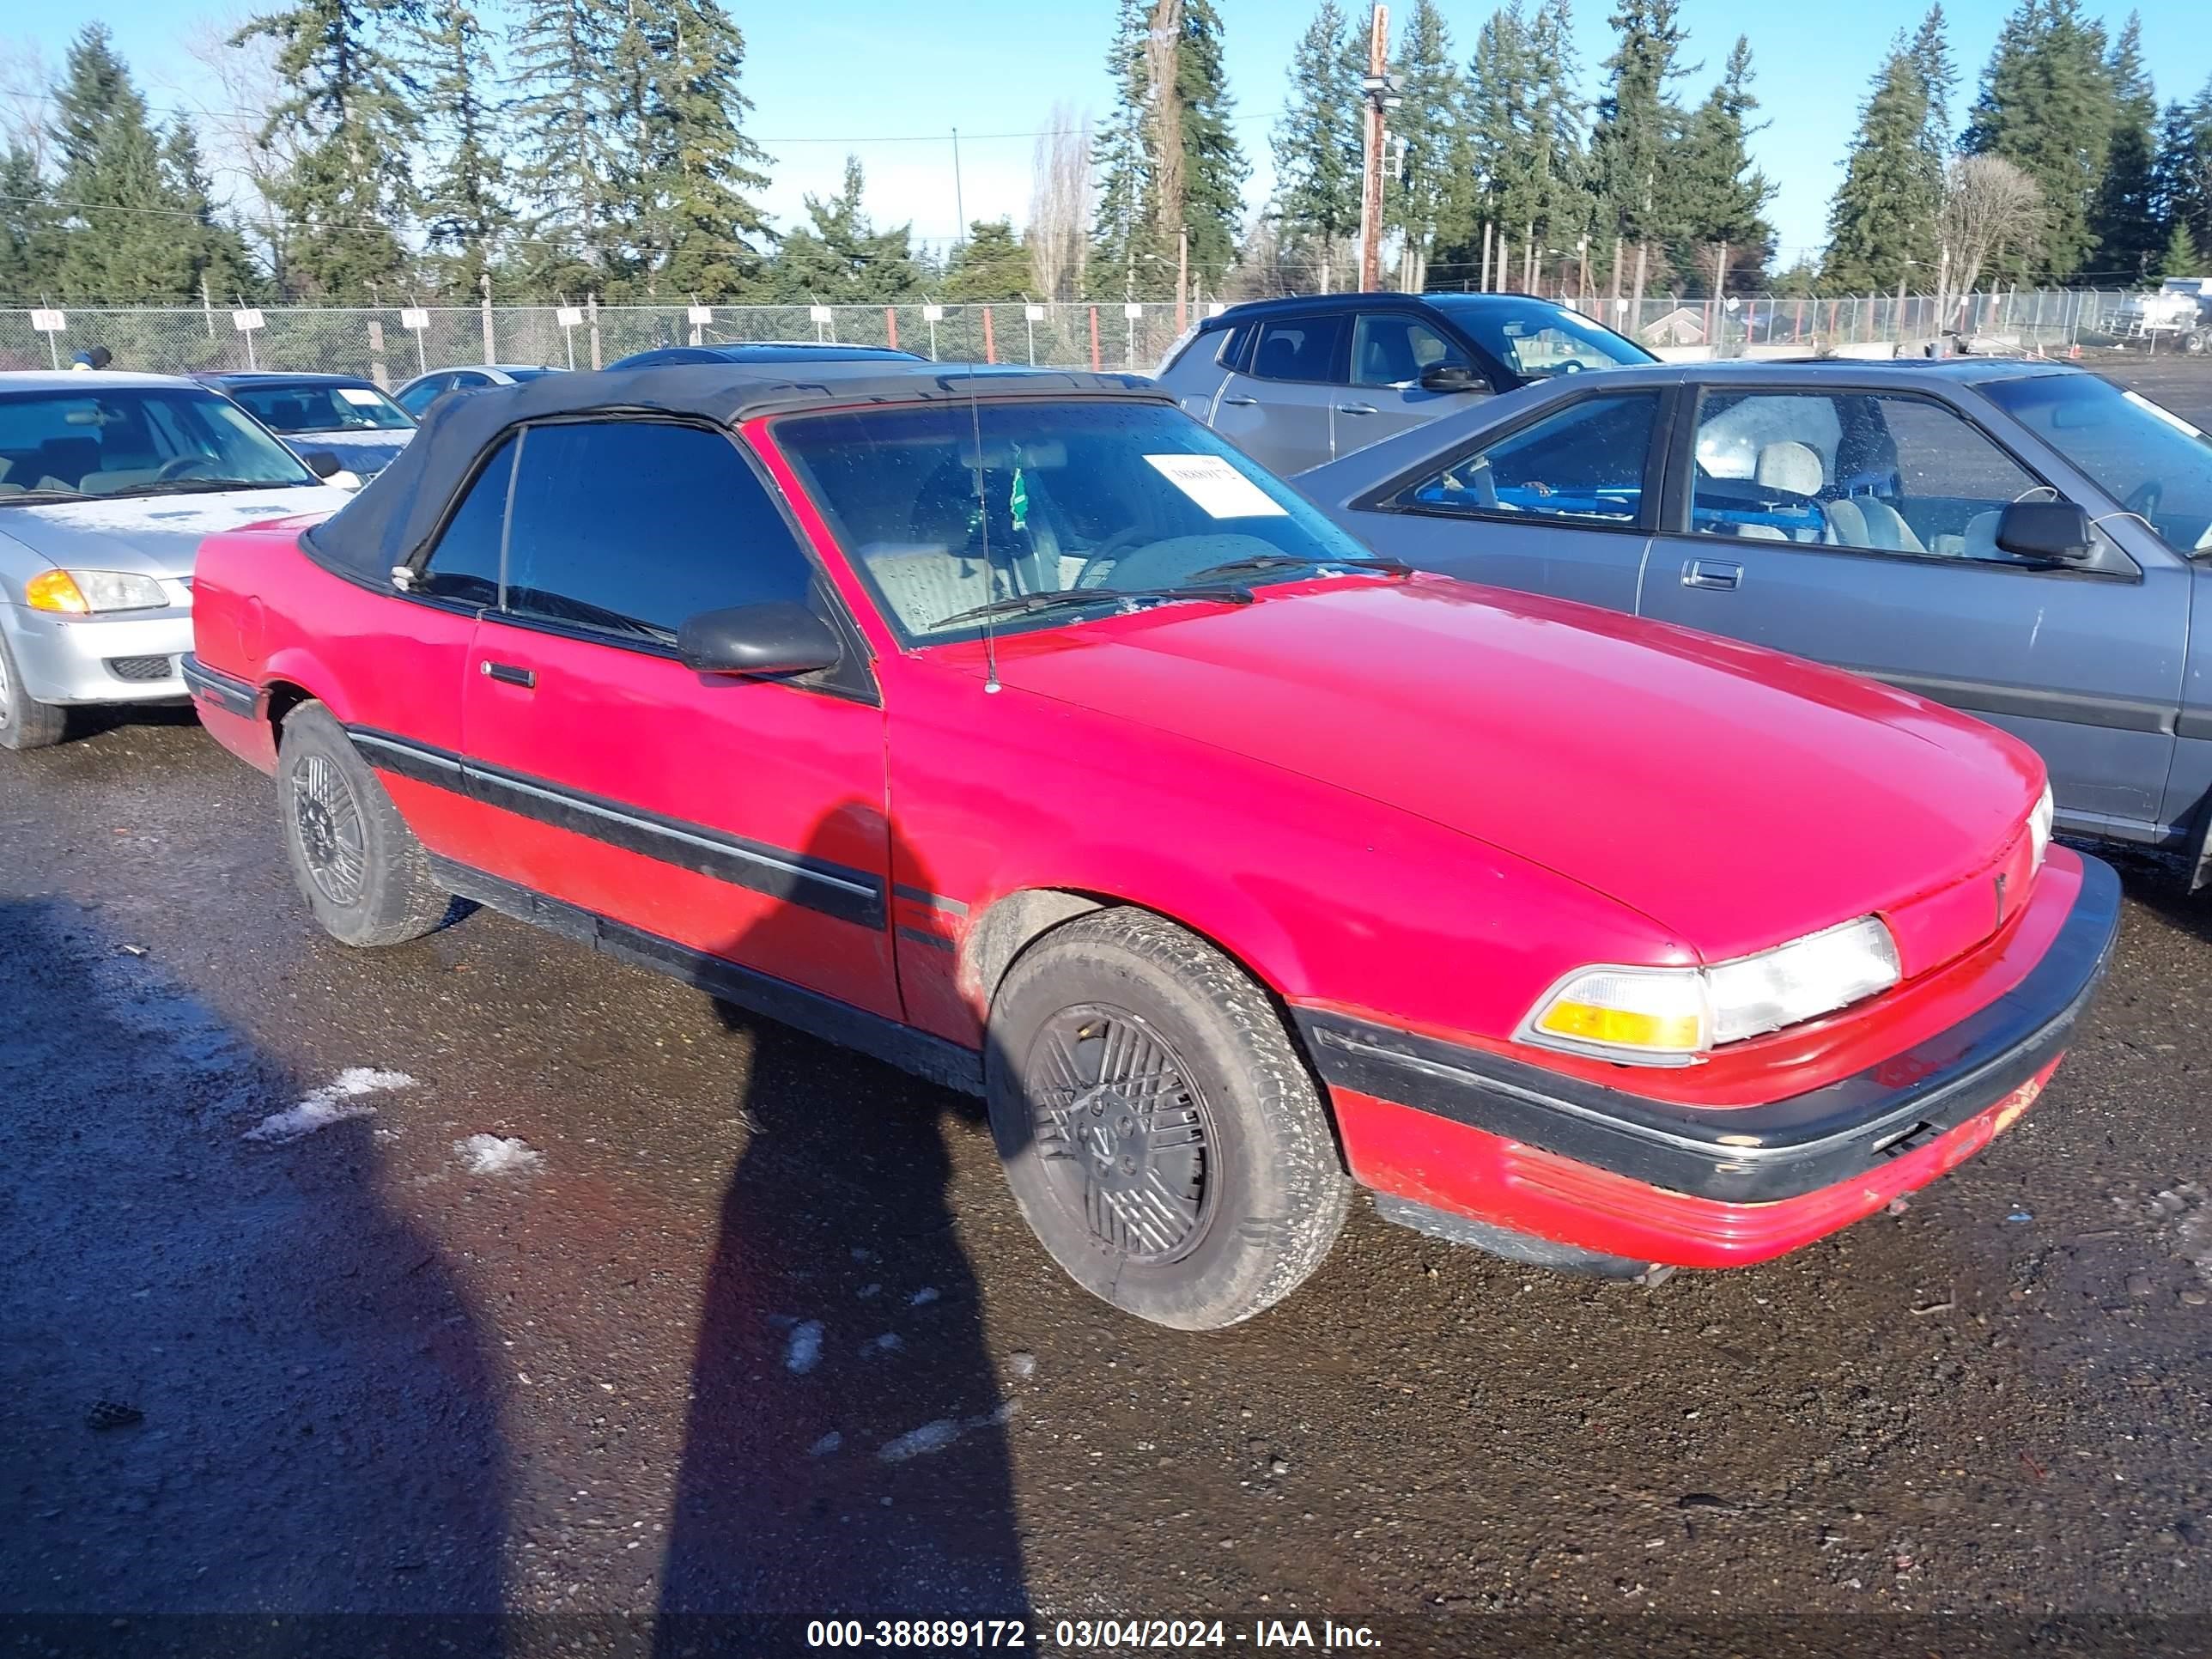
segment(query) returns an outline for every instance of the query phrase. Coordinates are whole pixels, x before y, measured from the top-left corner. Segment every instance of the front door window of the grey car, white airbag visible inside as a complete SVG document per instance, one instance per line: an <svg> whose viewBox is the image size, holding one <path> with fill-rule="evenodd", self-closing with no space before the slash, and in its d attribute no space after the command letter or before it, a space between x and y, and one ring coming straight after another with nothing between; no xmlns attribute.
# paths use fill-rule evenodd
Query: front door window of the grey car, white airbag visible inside
<svg viewBox="0 0 2212 1659"><path fill-rule="evenodd" d="M2013 564L1997 518L2035 489L2020 462L1927 398L1719 394L1699 407L1690 529Z"/></svg>

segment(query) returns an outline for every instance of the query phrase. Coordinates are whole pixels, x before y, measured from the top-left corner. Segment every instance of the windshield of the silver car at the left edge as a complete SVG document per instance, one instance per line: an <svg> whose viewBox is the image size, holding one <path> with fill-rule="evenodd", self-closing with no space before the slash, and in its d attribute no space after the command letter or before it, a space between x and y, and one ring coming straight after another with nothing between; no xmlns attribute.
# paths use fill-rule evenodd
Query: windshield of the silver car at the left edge
<svg viewBox="0 0 2212 1659"><path fill-rule="evenodd" d="M314 482L299 456L197 387L0 394L0 507Z"/></svg>

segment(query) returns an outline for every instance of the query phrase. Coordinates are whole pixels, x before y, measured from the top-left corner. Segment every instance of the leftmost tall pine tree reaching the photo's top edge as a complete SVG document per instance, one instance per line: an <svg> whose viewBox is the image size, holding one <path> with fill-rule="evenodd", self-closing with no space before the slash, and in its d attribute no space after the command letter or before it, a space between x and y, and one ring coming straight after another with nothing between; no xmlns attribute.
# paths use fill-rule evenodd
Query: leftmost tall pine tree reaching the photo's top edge
<svg viewBox="0 0 2212 1659"><path fill-rule="evenodd" d="M261 139L292 128L299 159L270 186L288 221L281 283L312 299L367 299L407 268L398 223L414 208L420 137L414 86L385 49L403 0L294 0L248 22L234 42L276 42L288 95Z"/></svg>

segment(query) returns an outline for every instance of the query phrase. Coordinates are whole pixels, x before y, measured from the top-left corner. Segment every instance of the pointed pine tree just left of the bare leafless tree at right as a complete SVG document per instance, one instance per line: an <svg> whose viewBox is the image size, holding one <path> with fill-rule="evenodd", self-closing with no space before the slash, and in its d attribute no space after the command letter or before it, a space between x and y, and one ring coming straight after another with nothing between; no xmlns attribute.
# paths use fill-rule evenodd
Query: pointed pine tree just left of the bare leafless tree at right
<svg viewBox="0 0 2212 1659"><path fill-rule="evenodd" d="M1834 292L1889 292L1913 265L1933 279L1942 173L1929 155L1929 82L1916 51L1889 49L1858 108L1858 137L1827 210L1820 276Z"/></svg>

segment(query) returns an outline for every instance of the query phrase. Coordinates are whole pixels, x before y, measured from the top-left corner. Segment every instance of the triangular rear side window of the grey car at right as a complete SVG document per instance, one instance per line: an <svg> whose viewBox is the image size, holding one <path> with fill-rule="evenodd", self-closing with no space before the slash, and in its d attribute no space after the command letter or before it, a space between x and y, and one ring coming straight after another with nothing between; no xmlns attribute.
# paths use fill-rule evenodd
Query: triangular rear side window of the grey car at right
<svg viewBox="0 0 2212 1659"><path fill-rule="evenodd" d="M1637 524L1659 394L1582 398L1411 484L1400 507Z"/></svg>

